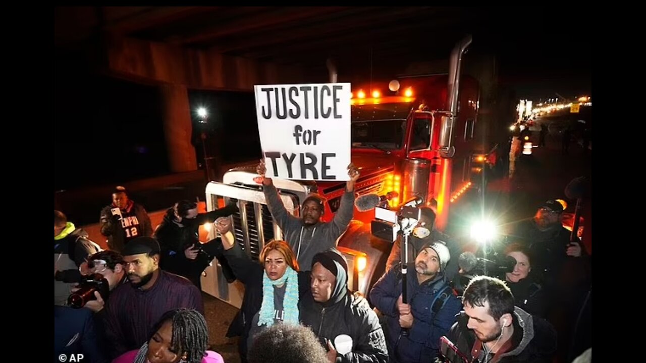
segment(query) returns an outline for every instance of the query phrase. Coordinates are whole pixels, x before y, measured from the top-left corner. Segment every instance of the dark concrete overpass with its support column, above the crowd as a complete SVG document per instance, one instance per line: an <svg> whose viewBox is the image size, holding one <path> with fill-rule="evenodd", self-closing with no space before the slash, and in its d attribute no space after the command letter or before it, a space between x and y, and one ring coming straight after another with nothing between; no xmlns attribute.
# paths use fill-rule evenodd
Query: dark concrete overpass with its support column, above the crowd
<svg viewBox="0 0 646 363"><path fill-rule="evenodd" d="M486 54L495 39L492 26L503 19L495 9L430 6L56 7L54 43L57 68L72 62L67 66L159 88L173 175L126 183L139 202L151 205L146 202L158 202L159 191L172 194L169 186L189 185L185 190L193 192L205 182L191 145L189 89L326 82L327 59L337 66L339 81L446 72L455 42L472 33L470 59L477 48ZM492 78L488 71L495 61L482 60L466 61L467 72ZM86 207L81 209L98 219L98 206L108 202L111 187L66 191L66 198L55 194L55 207L69 211L70 205L82 203ZM85 213L77 217L88 219Z"/></svg>

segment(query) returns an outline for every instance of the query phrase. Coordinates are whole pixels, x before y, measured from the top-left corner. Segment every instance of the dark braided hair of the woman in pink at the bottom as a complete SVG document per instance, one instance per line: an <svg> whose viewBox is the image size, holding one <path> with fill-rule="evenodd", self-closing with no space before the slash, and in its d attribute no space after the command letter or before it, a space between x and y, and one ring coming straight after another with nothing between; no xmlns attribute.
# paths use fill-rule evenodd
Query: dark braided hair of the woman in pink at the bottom
<svg viewBox="0 0 646 363"><path fill-rule="evenodd" d="M200 363L209 347L209 329L201 313L194 309L175 309L164 313L154 328L157 332L165 322L172 324L171 349L186 355L186 363ZM153 333L154 335L154 333Z"/></svg>

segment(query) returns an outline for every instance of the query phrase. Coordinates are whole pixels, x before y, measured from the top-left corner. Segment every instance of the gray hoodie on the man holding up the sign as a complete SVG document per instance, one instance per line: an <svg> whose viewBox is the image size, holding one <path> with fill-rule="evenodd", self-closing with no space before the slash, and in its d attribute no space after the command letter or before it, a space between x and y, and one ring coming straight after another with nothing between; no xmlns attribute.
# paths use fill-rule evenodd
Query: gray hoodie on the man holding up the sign
<svg viewBox="0 0 646 363"><path fill-rule="evenodd" d="M263 185L267 207L271 216L282 229L283 238L297 256L298 265L309 269L315 254L337 247L337 240L348 229L354 214L355 193L344 192L339 210L331 222L305 225L302 218L289 214L278 196L276 187Z"/></svg>

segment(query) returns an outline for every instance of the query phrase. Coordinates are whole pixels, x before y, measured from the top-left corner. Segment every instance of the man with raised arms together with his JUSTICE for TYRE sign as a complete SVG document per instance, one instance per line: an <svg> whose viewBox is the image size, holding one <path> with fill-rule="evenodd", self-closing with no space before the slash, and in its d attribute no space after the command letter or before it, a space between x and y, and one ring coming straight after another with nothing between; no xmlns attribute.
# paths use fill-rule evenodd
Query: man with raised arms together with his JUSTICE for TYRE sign
<svg viewBox="0 0 646 363"><path fill-rule="evenodd" d="M309 267L315 254L336 247L353 216L359 170L350 163L350 84L260 85L255 94L263 151L256 182L264 186L267 207L298 264ZM297 218L285 209L271 178L346 181L346 192L333 220L323 223L322 196L307 196Z"/></svg>

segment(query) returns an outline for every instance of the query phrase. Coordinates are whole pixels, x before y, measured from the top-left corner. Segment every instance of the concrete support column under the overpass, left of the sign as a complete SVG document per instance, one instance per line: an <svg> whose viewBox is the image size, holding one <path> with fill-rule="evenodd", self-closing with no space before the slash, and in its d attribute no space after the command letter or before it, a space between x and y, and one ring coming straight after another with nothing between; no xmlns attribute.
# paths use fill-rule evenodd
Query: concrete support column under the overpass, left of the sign
<svg viewBox="0 0 646 363"><path fill-rule="evenodd" d="M166 140L171 172L197 170L195 148L191 143L193 124L189 92L184 85L163 84L161 93L161 117Z"/></svg>

